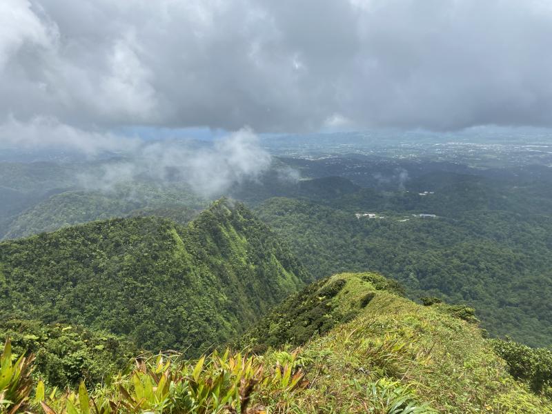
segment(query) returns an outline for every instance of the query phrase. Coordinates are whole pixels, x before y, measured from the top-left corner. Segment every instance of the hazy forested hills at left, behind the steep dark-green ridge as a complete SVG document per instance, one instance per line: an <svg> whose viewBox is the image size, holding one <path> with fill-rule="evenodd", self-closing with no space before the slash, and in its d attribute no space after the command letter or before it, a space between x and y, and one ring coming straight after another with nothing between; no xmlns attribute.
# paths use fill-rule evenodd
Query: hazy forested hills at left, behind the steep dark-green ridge
<svg viewBox="0 0 552 414"><path fill-rule="evenodd" d="M89 221L155 210L203 210L210 201L172 179L110 176L121 159L71 162L0 161L0 239L15 239ZM173 211L168 211L173 210ZM186 215L188 217L188 215Z"/></svg>

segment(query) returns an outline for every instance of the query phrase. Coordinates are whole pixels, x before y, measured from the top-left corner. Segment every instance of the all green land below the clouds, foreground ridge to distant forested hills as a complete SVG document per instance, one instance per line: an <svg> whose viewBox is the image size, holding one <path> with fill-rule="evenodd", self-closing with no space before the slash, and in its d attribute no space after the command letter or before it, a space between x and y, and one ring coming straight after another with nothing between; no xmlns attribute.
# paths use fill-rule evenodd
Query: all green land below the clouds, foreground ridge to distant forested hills
<svg viewBox="0 0 552 414"><path fill-rule="evenodd" d="M551 351L484 339L552 345L549 169L417 162L397 184L398 164L353 158L233 188L262 221L226 200L198 215L173 184L75 190L75 166L0 164L0 237L62 228L0 243L3 410L552 413ZM253 355L186 359L228 342ZM128 366L139 348L178 352Z"/></svg>

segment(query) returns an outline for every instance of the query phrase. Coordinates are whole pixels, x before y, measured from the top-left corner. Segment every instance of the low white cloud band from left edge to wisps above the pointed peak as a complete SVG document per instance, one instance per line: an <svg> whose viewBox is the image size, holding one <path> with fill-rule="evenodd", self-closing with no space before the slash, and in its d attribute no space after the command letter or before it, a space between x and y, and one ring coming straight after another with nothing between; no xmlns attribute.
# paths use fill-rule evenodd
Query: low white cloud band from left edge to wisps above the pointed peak
<svg viewBox="0 0 552 414"><path fill-rule="evenodd" d="M257 179L268 170L271 157L249 128L198 144L189 139L145 141L112 132L82 130L52 117L28 122L10 116L0 124L0 149L68 150L95 157L120 152L81 173L87 189L112 191L120 184L144 180L155 185L184 183L200 195L222 195L235 184Z"/></svg>

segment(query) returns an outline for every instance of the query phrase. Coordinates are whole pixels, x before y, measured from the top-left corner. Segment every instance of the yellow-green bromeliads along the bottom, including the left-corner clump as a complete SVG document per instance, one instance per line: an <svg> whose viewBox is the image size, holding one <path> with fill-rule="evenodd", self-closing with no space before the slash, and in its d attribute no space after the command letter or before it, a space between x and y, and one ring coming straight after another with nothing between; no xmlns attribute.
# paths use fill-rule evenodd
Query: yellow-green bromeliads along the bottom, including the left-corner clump
<svg viewBox="0 0 552 414"><path fill-rule="evenodd" d="M59 393L41 381L33 384L34 358L21 355L12 362L10 342L1 355L0 408L5 413L264 413L265 406L286 412L286 400L304 388L303 374L293 366L269 364L239 353L214 353L199 361L179 355L142 355L134 368L110 378L110 384L89 393ZM33 389L34 388L34 389Z"/></svg>

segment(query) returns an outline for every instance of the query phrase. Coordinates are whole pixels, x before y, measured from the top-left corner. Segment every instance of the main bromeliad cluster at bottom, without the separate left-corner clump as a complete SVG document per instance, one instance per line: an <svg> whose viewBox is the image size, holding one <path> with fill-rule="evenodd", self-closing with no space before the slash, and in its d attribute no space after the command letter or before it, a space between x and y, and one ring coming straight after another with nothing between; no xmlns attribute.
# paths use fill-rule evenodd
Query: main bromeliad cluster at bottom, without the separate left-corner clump
<svg viewBox="0 0 552 414"><path fill-rule="evenodd" d="M229 351L195 364L159 355L137 359L130 374L92 396L81 384L78 393L50 395L39 404L46 414L260 414L265 404L277 407L279 397L306 386L303 373L292 366L277 364L268 371L259 357Z"/></svg>

